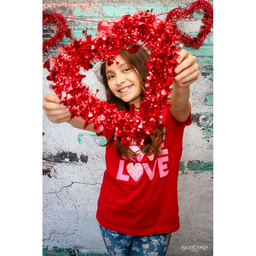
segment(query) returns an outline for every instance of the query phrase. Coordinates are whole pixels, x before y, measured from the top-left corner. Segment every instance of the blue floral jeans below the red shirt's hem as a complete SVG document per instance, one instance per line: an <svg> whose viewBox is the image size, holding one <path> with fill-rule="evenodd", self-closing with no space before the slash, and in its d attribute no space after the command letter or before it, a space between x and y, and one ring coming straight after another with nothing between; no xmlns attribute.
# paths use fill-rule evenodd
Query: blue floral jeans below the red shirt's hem
<svg viewBox="0 0 256 256"><path fill-rule="evenodd" d="M171 233L130 236L99 227L111 256L165 256L171 238Z"/></svg>

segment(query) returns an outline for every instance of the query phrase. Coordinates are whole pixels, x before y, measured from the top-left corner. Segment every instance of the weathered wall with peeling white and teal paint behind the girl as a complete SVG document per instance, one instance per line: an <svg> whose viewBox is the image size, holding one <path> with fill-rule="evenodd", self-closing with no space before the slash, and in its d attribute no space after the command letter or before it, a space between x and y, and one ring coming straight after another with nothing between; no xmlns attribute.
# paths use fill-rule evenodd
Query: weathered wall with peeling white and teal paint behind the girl
<svg viewBox="0 0 256 256"><path fill-rule="evenodd" d="M212 4L212 1L209 1ZM43 10L65 17L87 20L113 20L137 9L153 9L156 14L169 12L192 1L43 1ZM201 14L192 21L180 21L185 32L196 34ZM166 15L162 15L163 19ZM67 19L76 38L82 31L95 35L97 23ZM43 26L44 38L54 33L52 25ZM69 43L65 36L61 43ZM178 176L180 229L172 234L168 256L183 256L197 249L196 255L212 255L212 183L213 183L213 28L199 49L185 46L197 57L198 80L191 85L192 125L185 129L183 154ZM58 52L58 47L43 53L43 62ZM43 95L50 92L47 70L43 69ZM85 83L92 90L103 86L93 70ZM105 171L104 137L70 125L53 124L43 114L43 255L89 255L107 253L98 223L96 207ZM186 247L183 250L181 247ZM207 246L202 250L202 246ZM90 254L91 255L91 254Z"/></svg>

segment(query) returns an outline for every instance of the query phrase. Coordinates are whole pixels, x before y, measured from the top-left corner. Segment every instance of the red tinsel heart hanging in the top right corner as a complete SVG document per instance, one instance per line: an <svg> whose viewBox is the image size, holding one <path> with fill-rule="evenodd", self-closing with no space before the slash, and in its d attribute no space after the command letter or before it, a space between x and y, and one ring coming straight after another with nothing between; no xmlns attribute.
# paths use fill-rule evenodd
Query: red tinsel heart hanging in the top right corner
<svg viewBox="0 0 256 256"><path fill-rule="evenodd" d="M177 28L177 21L191 17L193 12L199 12L200 9L204 11L204 17L202 18L203 25L200 27L198 35L192 38L189 34ZM203 43L204 39L211 30L213 24L213 9L211 4L207 1L199 0L192 3L188 8L179 7L172 9L167 14L166 20L169 20L177 35L180 36L180 42L187 44L191 47L198 48Z"/></svg>

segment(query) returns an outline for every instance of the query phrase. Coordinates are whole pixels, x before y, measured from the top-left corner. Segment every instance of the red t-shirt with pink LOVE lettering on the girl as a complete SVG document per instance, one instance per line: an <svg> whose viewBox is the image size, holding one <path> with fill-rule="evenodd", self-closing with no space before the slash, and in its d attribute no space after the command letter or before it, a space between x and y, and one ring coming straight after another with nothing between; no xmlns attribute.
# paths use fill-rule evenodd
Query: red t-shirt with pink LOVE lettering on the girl
<svg viewBox="0 0 256 256"><path fill-rule="evenodd" d="M185 124L177 121L168 108L161 120L166 132L160 157L140 154L136 161L123 160L114 140L106 146L96 218L108 230L146 236L172 233L180 227L177 176L183 131L192 121L191 116Z"/></svg>

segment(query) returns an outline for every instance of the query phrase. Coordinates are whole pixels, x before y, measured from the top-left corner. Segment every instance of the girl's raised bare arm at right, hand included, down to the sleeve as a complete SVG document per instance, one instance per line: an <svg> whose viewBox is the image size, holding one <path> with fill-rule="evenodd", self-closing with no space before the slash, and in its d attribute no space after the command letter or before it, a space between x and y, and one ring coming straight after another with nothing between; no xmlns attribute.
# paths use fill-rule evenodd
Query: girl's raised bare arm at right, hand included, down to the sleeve
<svg viewBox="0 0 256 256"><path fill-rule="evenodd" d="M181 50L180 58L177 59L175 73L177 74L172 84L172 90L168 101L171 103L170 111L180 122L186 122L191 111L189 102L189 85L192 84L199 75L198 64L195 56L186 50Z"/></svg>

